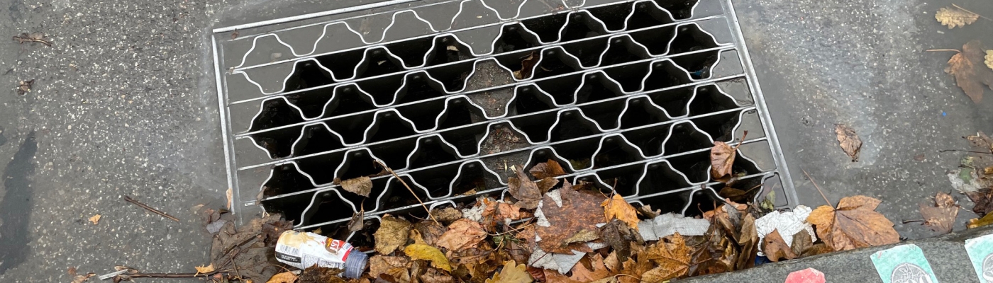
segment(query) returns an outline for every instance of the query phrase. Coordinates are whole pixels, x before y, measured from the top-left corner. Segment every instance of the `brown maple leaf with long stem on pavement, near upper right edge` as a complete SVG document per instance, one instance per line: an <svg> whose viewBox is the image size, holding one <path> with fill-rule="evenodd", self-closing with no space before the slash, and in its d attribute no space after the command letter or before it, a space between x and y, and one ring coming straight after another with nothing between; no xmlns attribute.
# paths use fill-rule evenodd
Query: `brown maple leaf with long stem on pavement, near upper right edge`
<svg viewBox="0 0 993 283"><path fill-rule="evenodd" d="M983 100L983 84L993 87L993 69L984 66L984 57L982 44L971 41L952 55L944 68L944 72L955 76L955 84L975 103Z"/></svg>

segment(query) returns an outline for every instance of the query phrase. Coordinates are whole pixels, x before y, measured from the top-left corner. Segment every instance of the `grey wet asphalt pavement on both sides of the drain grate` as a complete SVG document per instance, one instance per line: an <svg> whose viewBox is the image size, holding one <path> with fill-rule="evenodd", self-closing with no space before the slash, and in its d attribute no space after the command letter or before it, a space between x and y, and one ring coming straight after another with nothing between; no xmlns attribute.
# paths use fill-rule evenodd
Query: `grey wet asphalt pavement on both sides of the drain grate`
<svg viewBox="0 0 993 283"><path fill-rule="evenodd" d="M192 208L220 206L226 190L210 30L367 2L3 0L7 36L44 32L55 44L0 41L9 89L0 92L0 281L69 281L71 266L192 272L206 263L209 236ZM734 3L801 203L823 204L806 170L831 201L877 197L901 236L930 236L900 221L920 219L918 203L951 190L944 174L960 154L937 150L993 133L993 97L972 103L943 72L951 54L923 50L988 38L993 21L949 31L933 18L947 0ZM993 15L983 0L956 4ZM28 79L33 90L18 95ZM838 123L865 143L859 162L838 147Z"/></svg>

